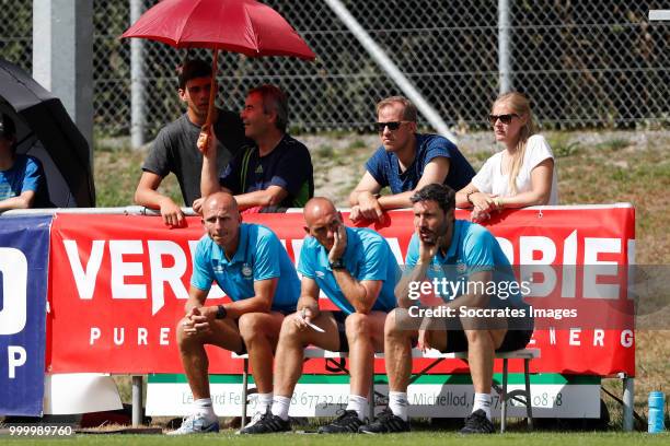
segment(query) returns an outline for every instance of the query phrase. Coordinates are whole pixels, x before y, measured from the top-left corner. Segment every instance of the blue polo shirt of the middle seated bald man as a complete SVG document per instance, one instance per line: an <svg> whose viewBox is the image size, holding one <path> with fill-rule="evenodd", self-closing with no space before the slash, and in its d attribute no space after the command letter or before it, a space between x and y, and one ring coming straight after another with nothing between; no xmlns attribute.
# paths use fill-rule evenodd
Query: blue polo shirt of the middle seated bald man
<svg viewBox="0 0 670 446"><path fill-rule="evenodd" d="M384 237L367 227L347 227L347 247L343 261L347 271L357 281L381 280L379 296L372 306L377 312L395 308L395 283L401 275L395 256ZM300 250L298 272L313 279L325 295L345 314L355 313L354 306L342 293L330 267L328 251L308 236Z"/></svg>

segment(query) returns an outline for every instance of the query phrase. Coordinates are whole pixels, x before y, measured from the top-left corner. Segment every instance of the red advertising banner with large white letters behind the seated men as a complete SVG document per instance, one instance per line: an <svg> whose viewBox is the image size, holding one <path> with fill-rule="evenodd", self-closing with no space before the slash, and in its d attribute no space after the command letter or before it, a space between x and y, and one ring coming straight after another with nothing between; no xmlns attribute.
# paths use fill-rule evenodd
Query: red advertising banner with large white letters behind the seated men
<svg viewBox="0 0 670 446"><path fill-rule="evenodd" d="M458 219L467 216L457 211ZM270 227L293 260L300 255L301 213L252 214L244 220ZM174 330L184 314L193 254L204 234L198 218L187 222L186 228L170 230L157 216L56 215L48 286L49 372L182 372ZM412 212L391 212L383 224L370 227L389 240L402 263L413 233ZM507 211L487 227L513 265L625 268L634 262L635 212L627 204ZM597 322L585 325L581 319L571 327L564 320L555 328L536 325L530 347L541 349L542 357L533 361L534 371L633 376L634 331L607 324L610 314L629 306L625 285L608 284L602 277L576 269L557 271L542 273L546 289L557 293L566 307L598 316ZM528 295L525 301L541 306L547 293ZM222 300L221 290L212 287L208 304ZM325 298L322 304L328 308ZM241 372L241 361L232 360L230 352L208 351L210 373ZM444 362L434 372L460 369L464 367L458 362ZM323 365L307 371L322 372ZM382 361L376 371L384 372Z"/></svg>

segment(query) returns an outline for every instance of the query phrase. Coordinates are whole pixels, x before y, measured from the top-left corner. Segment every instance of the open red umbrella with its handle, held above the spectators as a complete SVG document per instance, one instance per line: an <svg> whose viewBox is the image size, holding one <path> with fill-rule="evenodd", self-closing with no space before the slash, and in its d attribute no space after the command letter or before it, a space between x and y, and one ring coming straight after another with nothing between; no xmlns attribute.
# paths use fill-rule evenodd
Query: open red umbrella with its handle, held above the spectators
<svg viewBox="0 0 670 446"><path fill-rule="evenodd" d="M315 55L296 30L270 7L255 0L163 0L122 35L159 40L176 48L215 50L207 125L213 110L219 50L250 57Z"/></svg>

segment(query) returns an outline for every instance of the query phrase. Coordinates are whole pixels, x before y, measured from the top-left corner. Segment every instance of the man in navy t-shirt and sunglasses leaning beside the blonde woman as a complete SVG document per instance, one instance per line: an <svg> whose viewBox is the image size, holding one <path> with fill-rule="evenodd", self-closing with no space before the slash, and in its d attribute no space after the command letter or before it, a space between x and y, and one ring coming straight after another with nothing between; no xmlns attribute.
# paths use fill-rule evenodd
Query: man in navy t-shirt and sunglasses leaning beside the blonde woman
<svg viewBox="0 0 670 446"><path fill-rule="evenodd" d="M411 208L409 197L429 184L460 190L475 172L459 149L437 134L417 133L417 110L403 96L377 104L382 145L366 163L366 173L349 195L353 221L379 220L384 210ZM389 186L392 195L379 196Z"/></svg>

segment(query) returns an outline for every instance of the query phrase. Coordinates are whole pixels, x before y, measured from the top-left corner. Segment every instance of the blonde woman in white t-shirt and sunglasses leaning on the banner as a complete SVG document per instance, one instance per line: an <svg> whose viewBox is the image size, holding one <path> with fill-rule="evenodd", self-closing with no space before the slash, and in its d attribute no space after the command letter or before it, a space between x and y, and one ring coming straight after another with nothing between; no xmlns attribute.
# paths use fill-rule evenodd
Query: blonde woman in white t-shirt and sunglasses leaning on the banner
<svg viewBox="0 0 670 446"><path fill-rule="evenodd" d="M499 96L488 120L505 150L482 166L457 193L457 207L472 208L472 220L483 222L492 211L557 204L554 154L535 125L528 98L518 92Z"/></svg>

